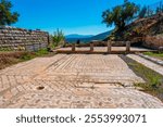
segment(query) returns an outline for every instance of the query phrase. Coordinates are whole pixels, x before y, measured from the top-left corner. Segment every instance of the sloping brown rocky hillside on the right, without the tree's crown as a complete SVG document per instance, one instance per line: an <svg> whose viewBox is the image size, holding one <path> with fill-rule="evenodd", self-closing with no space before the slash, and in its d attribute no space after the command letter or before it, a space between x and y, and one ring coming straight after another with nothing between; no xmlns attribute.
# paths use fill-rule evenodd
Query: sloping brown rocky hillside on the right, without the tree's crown
<svg viewBox="0 0 163 127"><path fill-rule="evenodd" d="M127 25L123 31L114 31L108 39L114 41L135 40L146 36L156 36L163 34L163 13L146 18L138 18Z"/></svg>

